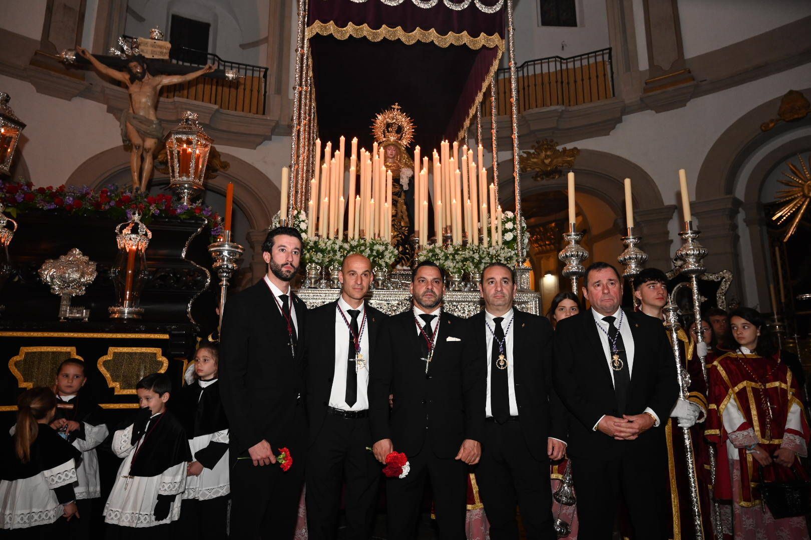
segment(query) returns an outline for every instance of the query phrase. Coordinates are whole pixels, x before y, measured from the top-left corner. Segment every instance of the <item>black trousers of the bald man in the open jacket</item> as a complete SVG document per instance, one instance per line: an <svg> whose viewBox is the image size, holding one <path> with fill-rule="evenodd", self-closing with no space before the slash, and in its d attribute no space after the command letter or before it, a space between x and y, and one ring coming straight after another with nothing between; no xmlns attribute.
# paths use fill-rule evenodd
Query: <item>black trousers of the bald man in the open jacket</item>
<svg viewBox="0 0 811 540"><path fill-rule="evenodd" d="M380 463L371 447L369 419L327 415L307 451L307 534L310 540L337 536L341 487L346 485L346 540L371 537Z"/></svg>

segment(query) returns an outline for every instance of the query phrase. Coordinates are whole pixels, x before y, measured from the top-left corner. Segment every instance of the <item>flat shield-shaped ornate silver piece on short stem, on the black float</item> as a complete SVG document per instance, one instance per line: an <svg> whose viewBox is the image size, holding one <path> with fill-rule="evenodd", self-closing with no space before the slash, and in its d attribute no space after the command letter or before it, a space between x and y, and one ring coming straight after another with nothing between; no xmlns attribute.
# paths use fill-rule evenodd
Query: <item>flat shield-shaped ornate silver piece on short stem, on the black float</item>
<svg viewBox="0 0 811 540"><path fill-rule="evenodd" d="M96 263L73 248L57 260L48 259L39 270L43 283L49 285L54 295L60 296L59 321L82 319L88 321L90 310L71 306L74 296L84 295L85 288L96 279Z"/></svg>

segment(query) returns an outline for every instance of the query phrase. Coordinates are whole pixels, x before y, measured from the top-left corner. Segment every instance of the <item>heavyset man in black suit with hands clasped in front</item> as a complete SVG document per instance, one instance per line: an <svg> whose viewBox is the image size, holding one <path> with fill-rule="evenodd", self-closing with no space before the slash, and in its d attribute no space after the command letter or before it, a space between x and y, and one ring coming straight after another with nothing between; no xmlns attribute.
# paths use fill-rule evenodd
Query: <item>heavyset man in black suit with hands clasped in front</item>
<svg viewBox="0 0 811 540"><path fill-rule="evenodd" d="M606 262L586 269L588 311L555 332L555 384L573 416L569 447L581 538L611 538L620 495L637 538L667 538L664 426L678 398L662 323L620 308L622 279Z"/></svg>

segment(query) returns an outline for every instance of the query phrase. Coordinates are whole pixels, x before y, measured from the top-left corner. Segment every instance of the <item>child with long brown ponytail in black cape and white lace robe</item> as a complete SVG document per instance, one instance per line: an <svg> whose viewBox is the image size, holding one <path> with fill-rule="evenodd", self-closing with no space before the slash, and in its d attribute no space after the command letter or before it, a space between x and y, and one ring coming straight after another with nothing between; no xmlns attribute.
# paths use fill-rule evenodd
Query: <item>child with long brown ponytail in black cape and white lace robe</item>
<svg viewBox="0 0 811 540"><path fill-rule="evenodd" d="M73 483L82 454L48 425L56 410L51 389L26 390L17 407L14 435L0 437L0 534L53 538L65 520L80 517Z"/></svg>

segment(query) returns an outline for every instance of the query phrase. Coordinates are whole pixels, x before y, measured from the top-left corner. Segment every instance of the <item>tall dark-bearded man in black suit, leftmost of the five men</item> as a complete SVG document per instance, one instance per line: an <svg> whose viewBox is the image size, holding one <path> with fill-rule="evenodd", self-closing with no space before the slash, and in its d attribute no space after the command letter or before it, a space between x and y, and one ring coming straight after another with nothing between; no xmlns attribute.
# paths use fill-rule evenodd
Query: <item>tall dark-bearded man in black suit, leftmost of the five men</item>
<svg viewBox="0 0 811 540"><path fill-rule="evenodd" d="M230 424L231 538L292 538L304 482L307 416L303 347L307 307L290 290L302 237L276 227L262 244L268 274L228 299L220 385ZM290 450L293 467L276 465Z"/></svg>

